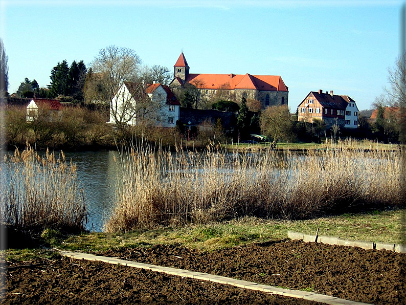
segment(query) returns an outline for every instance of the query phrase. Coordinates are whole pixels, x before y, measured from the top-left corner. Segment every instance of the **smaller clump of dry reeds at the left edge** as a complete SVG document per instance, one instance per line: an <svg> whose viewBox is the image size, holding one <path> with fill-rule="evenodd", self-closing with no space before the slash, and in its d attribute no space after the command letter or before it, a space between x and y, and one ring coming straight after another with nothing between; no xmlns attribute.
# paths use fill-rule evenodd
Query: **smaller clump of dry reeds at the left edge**
<svg viewBox="0 0 406 305"><path fill-rule="evenodd" d="M47 150L41 157L28 145L15 150L2 163L0 215L7 226L41 232L46 228L77 232L85 229L84 192L76 179L76 166L56 159Z"/></svg>

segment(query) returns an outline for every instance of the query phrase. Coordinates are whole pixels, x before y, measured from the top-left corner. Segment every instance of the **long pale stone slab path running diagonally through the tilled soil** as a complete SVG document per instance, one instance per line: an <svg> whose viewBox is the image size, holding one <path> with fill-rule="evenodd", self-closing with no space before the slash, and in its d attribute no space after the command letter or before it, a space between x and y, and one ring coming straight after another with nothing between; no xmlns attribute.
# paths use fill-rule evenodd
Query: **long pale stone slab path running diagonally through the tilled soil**
<svg viewBox="0 0 406 305"><path fill-rule="evenodd" d="M220 284L232 285L239 288L246 288L251 290L258 290L262 292L277 294L281 296L287 297L294 297L299 299L305 299L315 302L321 302L330 305L371 305L367 303L360 303L345 299L340 299L333 296L328 296L324 294L314 293L314 292L307 292L301 290L290 290L284 288L278 288L274 286L266 286L262 284L258 284L255 282L250 282L246 280L239 280L230 277L220 276L220 275L213 275L203 272L194 272L184 269L176 269L176 268L169 268L169 267L162 267L156 265L149 265L137 262L131 262L129 260L118 259L118 258L111 258L106 256L99 256L94 254L86 254L80 252L71 252L71 251L59 251L62 256L70 257L73 259L81 259L81 260L93 260L96 262L104 262L108 264L115 264L115 265L123 265L127 267L134 267L134 268L141 268L147 269L155 272L163 272L166 274L181 276L181 277L190 277L199 280L206 280L217 282Z"/></svg>

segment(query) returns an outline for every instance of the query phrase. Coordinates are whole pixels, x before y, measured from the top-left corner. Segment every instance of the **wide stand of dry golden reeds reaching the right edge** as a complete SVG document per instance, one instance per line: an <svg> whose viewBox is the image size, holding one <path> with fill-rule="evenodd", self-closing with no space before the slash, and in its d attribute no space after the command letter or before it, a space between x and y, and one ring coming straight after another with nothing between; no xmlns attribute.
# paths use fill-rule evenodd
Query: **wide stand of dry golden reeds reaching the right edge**
<svg viewBox="0 0 406 305"><path fill-rule="evenodd" d="M400 150L326 146L306 156L226 153L156 153L152 147L123 154L117 200L106 231L168 224L208 223L252 215L305 219L354 207L403 204Z"/></svg>

